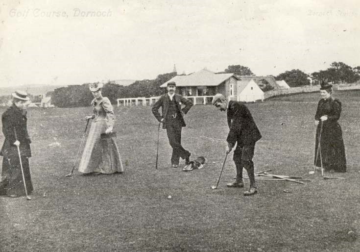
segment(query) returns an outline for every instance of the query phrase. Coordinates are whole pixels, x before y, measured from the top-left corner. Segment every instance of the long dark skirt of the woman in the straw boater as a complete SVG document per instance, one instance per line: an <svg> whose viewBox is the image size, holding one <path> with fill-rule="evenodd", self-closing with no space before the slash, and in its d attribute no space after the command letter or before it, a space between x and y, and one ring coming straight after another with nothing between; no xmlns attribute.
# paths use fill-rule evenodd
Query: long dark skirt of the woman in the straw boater
<svg viewBox="0 0 360 252"><path fill-rule="evenodd" d="M33 191L29 159L26 156L22 156L23 171L26 183L27 193L30 194ZM21 166L19 158L7 157L2 158L2 172L0 182L0 195L25 195L25 187L23 181L23 174L21 172Z"/></svg>

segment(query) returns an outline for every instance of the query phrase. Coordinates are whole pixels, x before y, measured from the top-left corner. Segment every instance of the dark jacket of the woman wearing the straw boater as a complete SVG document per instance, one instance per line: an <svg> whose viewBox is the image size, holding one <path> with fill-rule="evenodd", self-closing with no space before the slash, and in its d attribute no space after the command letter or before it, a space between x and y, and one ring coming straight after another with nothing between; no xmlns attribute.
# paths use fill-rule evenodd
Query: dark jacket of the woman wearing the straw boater
<svg viewBox="0 0 360 252"><path fill-rule="evenodd" d="M30 138L27 132L26 110L18 108L12 104L1 116L2 133L5 136L0 155L8 158L18 156L18 150L14 145L16 138L14 129L16 129L17 139L20 142L20 153L22 156L31 156Z"/></svg>

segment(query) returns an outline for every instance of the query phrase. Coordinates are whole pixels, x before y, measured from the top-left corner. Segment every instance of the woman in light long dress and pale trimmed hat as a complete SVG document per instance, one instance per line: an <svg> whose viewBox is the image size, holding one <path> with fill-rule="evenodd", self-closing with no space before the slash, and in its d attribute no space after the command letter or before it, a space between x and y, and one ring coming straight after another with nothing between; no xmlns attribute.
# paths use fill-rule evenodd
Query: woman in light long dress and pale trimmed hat
<svg viewBox="0 0 360 252"><path fill-rule="evenodd" d="M84 174L122 173L120 153L113 139L114 112L107 97L103 97L101 89L103 82L89 85L94 96L91 102L94 114L85 119L93 119L85 149L81 157L79 172Z"/></svg>

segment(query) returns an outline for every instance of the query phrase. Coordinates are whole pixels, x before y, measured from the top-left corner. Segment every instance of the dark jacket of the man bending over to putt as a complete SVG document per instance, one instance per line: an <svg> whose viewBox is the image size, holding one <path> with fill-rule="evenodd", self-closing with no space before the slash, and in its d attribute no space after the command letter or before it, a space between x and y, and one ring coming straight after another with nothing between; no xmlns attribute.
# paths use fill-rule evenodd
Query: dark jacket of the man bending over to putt
<svg viewBox="0 0 360 252"><path fill-rule="evenodd" d="M251 145L261 138L249 109L238 101L229 101L227 109L227 122L230 128L226 141L232 146Z"/></svg>

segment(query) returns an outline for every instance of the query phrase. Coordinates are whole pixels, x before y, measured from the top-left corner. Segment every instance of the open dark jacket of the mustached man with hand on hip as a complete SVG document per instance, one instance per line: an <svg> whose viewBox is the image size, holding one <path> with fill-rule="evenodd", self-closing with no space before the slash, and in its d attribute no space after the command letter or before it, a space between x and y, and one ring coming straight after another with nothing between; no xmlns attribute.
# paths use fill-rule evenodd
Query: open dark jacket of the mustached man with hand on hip
<svg viewBox="0 0 360 252"><path fill-rule="evenodd" d="M188 100L181 95L175 94L174 99L176 101L176 105L182 113L179 115L179 120L182 127L185 127L185 121L183 118L183 113L187 114L190 108L192 107L192 101ZM181 109L181 105L184 104L185 107ZM152 106L152 113L154 114L155 118L158 120L158 122L161 121L161 119L164 118L163 121L163 128L166 128L166 117L168 114L168 106L169 106L169 97L168 94L162 95L158 101L155 102L155 104ZM159 108L162 107L162 115L159 113Z"/></svg>

